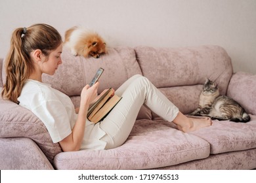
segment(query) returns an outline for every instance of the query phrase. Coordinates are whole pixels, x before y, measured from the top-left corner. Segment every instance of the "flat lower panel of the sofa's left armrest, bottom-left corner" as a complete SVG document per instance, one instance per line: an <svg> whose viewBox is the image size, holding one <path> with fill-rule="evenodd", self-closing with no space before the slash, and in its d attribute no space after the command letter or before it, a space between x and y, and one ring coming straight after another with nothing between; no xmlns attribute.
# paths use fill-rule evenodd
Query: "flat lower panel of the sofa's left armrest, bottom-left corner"
<svg viewBox="0 0 256 183"><path fill-rule="evenodd" d="M45 154L31 139L0 138L0 169L53 169Z"/></svg>

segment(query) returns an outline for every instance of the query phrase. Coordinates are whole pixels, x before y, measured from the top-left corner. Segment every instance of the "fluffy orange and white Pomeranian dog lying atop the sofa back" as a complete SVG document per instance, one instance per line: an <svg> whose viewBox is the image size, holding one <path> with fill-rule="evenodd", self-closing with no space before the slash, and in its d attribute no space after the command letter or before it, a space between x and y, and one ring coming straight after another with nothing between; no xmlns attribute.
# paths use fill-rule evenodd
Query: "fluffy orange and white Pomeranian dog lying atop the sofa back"
<svg viewBox="0 0 256 183"><path fill-rule="evenodd" d="M102 37L82 27L68 29L65 33L64 45L70 48L74 56L100 58L100 54L106 54L106 42Z"/></svg>

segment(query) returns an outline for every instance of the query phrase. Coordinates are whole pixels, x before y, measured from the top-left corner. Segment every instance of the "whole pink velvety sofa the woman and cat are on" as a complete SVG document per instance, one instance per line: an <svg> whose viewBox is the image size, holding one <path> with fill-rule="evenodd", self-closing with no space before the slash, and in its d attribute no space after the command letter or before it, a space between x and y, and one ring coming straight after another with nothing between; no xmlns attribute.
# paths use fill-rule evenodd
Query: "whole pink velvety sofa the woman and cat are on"
<svg viewBox="0 0 256 183"><path fill-rule="evenodd" d="M63 64L47 82L70 96L79 94L98 67L105 69L100 90L118 88L133 75L144 75L181 112L198 105L205 77L216 80L221 93L236 99L249 112L242 124L213 121L192 133L182 133L142 107L127 141L112 150L62 152L43 123L29 110L0 99L0 169L255 169L256 75L233 73L232 63L219 46L186 48L109 48L99 59L75 57L63 50ZM2 71L3 59L0 61ZM0 87L5 73L0 73ZM100 91L99 91L100 92Z"/></svg>

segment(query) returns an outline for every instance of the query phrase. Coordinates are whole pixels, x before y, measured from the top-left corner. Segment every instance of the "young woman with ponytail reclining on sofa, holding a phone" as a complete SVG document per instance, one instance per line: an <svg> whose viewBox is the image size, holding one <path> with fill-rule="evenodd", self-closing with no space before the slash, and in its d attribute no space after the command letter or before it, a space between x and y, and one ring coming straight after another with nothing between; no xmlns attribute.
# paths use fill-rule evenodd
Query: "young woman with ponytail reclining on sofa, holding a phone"
<svg viewBox="0 0 256 183"><path fill-rule="evenodd" d="M91 88L87 84L81 91L78 114L67 95L42 82L43 73L54 75L62 63L61 53L61 36L50 25L35 24L16 29L5 59L7 77L2 95L31 110L63 151L120 146L129 136L143 103L163 119L177 124L183 132L211 125L209 118L184 116L141 75L132 76L116 90L116 94L123 99L102 122L93 124L87 120L87 110L104 93L97 95L99 82Z"/></svg>

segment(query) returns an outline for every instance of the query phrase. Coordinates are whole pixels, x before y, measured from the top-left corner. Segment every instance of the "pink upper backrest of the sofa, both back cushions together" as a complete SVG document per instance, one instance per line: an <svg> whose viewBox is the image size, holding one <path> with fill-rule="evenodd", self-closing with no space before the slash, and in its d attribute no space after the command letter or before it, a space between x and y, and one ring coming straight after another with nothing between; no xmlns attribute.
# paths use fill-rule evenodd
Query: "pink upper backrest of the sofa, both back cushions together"
<svg viewBox="0 0 256 183"><path fill-rule="evenodd" d="M62 62L54 76L43 75L43 82L70 97L80 95L83 86L91 81L99 67L105 69L100 78L99 92L109 87L117 89L129 77L142 74L157 88L203 84L205 78L209 78L218 83L221 94L226 94L232 76L228 54L220 46L212 45L185 48L109 48L108 54L98 59L72 56L64 47ZM4 71L1 67L2 64L0 69ZM5 80L4 72L0 86L2 80Z"/></svg>

